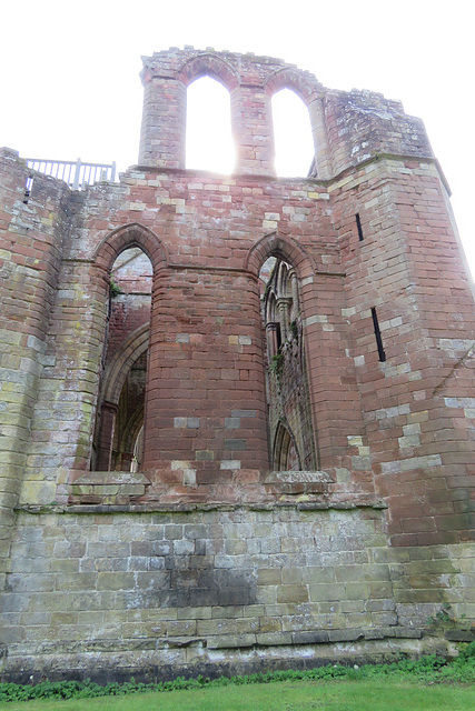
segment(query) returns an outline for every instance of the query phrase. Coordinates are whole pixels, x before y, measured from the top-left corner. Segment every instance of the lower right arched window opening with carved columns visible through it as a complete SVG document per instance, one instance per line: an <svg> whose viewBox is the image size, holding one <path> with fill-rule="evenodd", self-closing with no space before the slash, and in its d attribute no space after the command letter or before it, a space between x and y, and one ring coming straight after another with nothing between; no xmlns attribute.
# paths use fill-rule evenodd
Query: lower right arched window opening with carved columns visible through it
<svg viewBox="0 0 475 711"><path fill-rule="evenodd" d="M297 274L277 256L259 272L269 458L277 471L314 471L315 441Z"/></svg>

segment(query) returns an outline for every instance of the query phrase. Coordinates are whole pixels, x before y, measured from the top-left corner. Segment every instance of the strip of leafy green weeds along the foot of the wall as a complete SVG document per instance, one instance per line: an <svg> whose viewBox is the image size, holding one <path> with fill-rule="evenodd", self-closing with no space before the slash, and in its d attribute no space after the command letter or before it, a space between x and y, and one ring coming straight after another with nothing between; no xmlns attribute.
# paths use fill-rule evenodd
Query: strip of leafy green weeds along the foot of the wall
<svg viewBox="0 0 475 711"><path fill-rule="evenodd" d="M327 667L308 670L258 672L246 677L220 677L219 679L209 679L202 675L196 679L177 677L172 681L147 684L131 679L122 684L115 682L105 687L90 680L43 681L37 685L0 683L0 702L29 701L31 699L90 699L92 697L118 697L146 691L181 691L187 689L266 684L277 681L329 681L331 679L359 681L388 677L431 684L439 682L473 683L475 682L475 642L461 644L458 657L451 661L432 654L418 660L399 659L390 663L375 665L364 664L358 667L355 664L354 667L344 667L343 664L328 664Z"/></svg>

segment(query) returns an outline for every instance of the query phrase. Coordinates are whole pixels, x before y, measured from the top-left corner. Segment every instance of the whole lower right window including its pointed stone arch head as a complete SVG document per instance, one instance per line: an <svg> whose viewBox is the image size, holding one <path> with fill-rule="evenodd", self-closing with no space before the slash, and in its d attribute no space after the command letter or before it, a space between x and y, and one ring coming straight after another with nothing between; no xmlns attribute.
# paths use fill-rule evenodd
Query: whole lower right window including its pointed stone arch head
<svg viewBox="0 0 475 711"><path fill-rule="evenodd" d="M277 261L264 293L257 289L266 343L269 455L275 470L314 470L318 460L317 429L310 405L305 326L313 299L309 288L298 293L298 281L311 281L316 270L304 247L275 232L250 248L245 260L248 273L258 277L269 257Z"/></svg>

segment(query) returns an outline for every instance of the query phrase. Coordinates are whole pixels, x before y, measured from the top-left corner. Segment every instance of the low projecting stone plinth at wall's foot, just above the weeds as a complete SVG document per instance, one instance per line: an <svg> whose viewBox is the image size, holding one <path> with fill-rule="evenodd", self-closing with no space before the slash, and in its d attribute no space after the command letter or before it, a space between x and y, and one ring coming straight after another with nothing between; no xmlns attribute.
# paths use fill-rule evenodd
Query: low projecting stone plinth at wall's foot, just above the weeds
<svg viewBox="0 0 475 711"><path fill-rule="evenodd" d="M66 645L66 643L65 643ZM328 643L315 645L293 645L249 649L209 649L197 644L192 649L132 650L111 653L58 651L58 653L24 654L10 648L8 663L2 669L3 681L17 683L39 683L43 679L61 681L68 679L91 679L101 684L111 681L158 682L176 679L177 675L216 678L219 675L255 674L277 669L315 669L325 664L366 664L397 661L404 652L410 658L422 654L451 654L451 648L443 640L424 638L420 640L388 640Z"/></svg>

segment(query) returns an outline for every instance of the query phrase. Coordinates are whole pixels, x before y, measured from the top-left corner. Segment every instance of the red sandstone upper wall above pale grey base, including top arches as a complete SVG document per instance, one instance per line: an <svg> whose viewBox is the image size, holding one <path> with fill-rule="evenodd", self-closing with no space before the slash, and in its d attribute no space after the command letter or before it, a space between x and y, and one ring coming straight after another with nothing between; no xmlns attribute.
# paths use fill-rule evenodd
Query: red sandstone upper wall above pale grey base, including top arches
<svg viewBox="0 0 475 711"><path fill-rule="evenodd" d="M44 179L41 192L39 180L41 201L31 213L19 202L24 167L7 157L6 229L21 237L18 260L39 260L30 266L37 279L34 293L27 291L31 309L17 310L23 282L4 282L13 293L7 303L24 352L34 351L29 336L44 343L37 349L44 349L38 391L21 384L31 435L26 421L11 431L28 450L24 501L65 498L71 477L90 465L109 270L121 250L137 244L154 268L145 415L151 490L161 483L176 487L180 500L206 500L212 483L263 479L268 448L257 276L276 254L299 279L309 400L330 495L352 503L376 484L396 544L469 535L473 300L420 122L368 92L327 92L278 60L238 57L229 68L229 57L205 54L146 61L141 160L149 167L113 189L97 186L69 199L68 229L60 228L65 188ZM179 170L184 88L207 71L232 93L241 173L230 178ZM325 181L270 177L266 107L283 83L307 101ZM53 297L58 234L62 262ZM10 251L2 252L7 269ZM144 317L117 316L110 362ZM16 481L20 471L10 471Z"/></svg>

